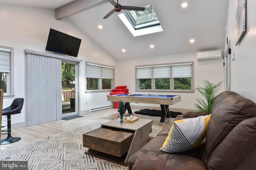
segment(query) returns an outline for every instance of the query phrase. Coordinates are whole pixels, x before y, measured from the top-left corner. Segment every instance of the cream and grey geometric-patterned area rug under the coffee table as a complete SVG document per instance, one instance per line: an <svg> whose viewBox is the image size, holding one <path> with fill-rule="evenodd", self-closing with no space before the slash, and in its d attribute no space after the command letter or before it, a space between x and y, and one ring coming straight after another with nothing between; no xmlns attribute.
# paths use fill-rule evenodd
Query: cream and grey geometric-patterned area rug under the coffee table
<svg viewBox="0 0 256 170"><path fill-rule="evenodd" d="M82 134L99 128L104 121L91 123L70 131L0 152L3 161L28 161L28 170L128 170L107 160L84 154ZM160 130L152 129L151 137Z"/></svg>

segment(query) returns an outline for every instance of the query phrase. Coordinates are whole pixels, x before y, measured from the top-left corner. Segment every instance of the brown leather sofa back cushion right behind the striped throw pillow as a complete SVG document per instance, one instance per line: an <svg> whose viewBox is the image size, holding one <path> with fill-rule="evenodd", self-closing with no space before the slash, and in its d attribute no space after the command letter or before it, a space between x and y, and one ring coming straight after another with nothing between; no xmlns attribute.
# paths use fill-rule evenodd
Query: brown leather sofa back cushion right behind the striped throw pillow
<svg viewBox="0 0 256 170"><path fill-rule="evenodd" d="M256 116L256 104L235 92L220 93L213 106L206 132L206 159L238 123Z"/></svg>

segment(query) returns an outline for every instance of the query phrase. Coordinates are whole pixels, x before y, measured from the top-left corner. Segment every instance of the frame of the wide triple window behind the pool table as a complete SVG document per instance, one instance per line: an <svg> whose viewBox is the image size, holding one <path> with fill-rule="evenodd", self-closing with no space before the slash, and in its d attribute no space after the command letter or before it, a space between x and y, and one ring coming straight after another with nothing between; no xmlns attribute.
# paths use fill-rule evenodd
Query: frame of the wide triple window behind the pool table
<svg viewBox="0 0 256 170"><path fill-rule="evenodd" d="M154 67L157 66L174 66L174 65L182 65L182 64L191 64L191 90L174 90L174 78L177 77L170 77L170 90L168 89L156 89L155 87L155 79L153 76L151 78L151 89L139 89L139 79L143 79L143 78L137 78L137 68L148 68L148 67L152 67L152 70ZM152 73L153 75L153 73ZM159 77L158 77L159 78ZM168 77L166 77L168 78ZM150 78L145 78L145 79L150 79ZM180 62L180 63L164 63L164 64L151 64L151 65L138 65L135 66L135 83L136 83L136 90L135 91L140 91L140 92L193 92L194 91L194 61L189 61L189 62Z"/></svg>

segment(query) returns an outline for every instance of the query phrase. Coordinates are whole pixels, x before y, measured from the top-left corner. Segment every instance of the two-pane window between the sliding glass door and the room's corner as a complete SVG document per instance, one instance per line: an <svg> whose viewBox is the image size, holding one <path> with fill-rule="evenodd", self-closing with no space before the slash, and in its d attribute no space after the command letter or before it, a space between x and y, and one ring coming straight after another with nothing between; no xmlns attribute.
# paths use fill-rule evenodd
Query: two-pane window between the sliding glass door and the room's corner
<svg viewBox="0 0 256 170"><path fill-rule="evenodd" d="M111 90L113 87L114 67L86 63L86 91Z"/></svg>

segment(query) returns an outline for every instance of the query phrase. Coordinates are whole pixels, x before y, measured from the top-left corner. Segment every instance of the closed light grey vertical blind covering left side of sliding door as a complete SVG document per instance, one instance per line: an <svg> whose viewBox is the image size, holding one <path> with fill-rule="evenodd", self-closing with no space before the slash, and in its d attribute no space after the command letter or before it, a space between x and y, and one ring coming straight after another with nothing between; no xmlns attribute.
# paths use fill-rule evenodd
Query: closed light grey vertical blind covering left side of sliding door
<svg viewBox="0 0 256 170"><path fill-rule="evenodd" d="M27 53L27 126L62 118L61 64L61 59Z"/></svg>

